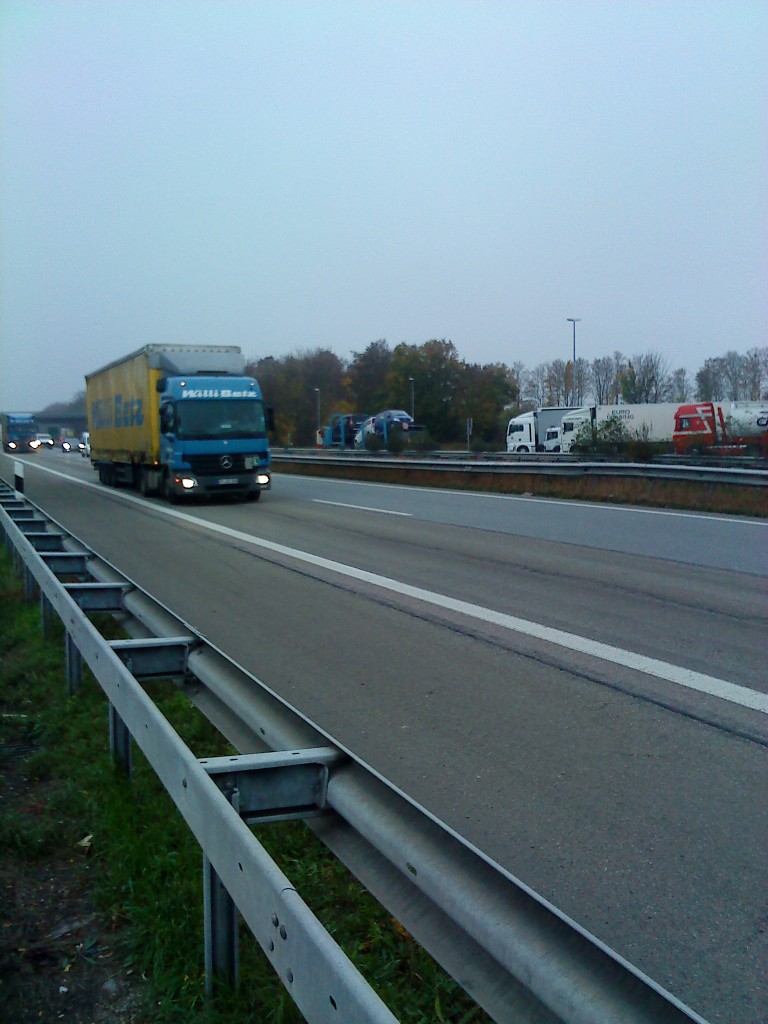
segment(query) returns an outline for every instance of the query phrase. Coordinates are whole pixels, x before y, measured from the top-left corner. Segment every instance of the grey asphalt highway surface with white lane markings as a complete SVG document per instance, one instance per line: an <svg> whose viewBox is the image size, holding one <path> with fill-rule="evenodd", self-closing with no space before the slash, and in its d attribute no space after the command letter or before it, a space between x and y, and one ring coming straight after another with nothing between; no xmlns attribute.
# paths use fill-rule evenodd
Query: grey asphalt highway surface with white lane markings
<svg viewBox="0 0 768 1024"><path fill-rule="evenodd" d="M767 522L292 475L172 508L24 461L341 745L713 1024L765 1024Z"/></svg>

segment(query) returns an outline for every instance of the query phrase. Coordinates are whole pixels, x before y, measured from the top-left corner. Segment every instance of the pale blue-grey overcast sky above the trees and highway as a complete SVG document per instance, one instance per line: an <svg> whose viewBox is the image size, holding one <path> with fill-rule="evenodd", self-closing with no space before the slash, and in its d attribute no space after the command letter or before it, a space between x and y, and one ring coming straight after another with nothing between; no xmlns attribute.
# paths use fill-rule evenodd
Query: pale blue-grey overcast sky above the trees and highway
<svg viewBox="0 0 768 1024"><path fill-rule="evenodd" d="M0 409L147 343L768 344L768 4L3 0Z"/></svg>

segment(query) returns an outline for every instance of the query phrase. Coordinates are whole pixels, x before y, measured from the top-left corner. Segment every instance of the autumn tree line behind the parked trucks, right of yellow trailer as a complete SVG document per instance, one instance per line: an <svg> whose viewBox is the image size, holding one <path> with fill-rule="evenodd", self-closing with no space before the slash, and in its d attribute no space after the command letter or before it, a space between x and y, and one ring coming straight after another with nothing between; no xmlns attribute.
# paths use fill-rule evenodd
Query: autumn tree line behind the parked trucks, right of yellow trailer
<svg viewBox="0 0 768 1024"><path fill-rule="evenodd" d="M298 445L313 444L335 413L403 409L444 443L466 441L471 420L475 441L501 444L510 416L541 406L768 398L768 346L707 359L693 377L657 352L532 369L480 365L462 359L445 339L394 347L381 339L348 360L317 348L251 360L246 370L274 408L276 440Z"/></svg>

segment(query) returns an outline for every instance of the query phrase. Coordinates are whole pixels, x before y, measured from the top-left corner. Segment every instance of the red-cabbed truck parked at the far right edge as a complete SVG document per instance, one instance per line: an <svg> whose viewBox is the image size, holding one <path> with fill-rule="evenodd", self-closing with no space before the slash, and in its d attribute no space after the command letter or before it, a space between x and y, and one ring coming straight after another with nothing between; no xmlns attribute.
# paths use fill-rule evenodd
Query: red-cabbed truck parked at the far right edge
<svg viewBox="0 0 768 1024"><path fill-rule="evenodd" d="M768 401L699 401L675 413L677 455L768 458Z"/></svg>

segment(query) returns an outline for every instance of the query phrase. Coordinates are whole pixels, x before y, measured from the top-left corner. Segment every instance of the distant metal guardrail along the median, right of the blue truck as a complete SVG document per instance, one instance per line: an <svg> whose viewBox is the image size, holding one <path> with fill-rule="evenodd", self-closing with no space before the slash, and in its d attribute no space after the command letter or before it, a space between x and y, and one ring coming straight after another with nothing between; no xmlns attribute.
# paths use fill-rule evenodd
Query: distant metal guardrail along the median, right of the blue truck
<svg viewBox="0 0 768 1024"><path fill-rule="evenodd" d="M547 474L561 477L605 476L677 480L695 483L725 483L749 487L768 487L768 469L762 468L764 460L754 460L755 465L701 465L670 460L653 463L604 462L571 455L512 455L500 453L493 457L467 453L441 453L425 458L416 455L391 456L364 455L359 452L272 450L276 464L294 463L311 466L357 466L360 469L378 467L408 472L437 473L487 473L492 475ZM709 462L709 461L708 461Z"/></svg>

